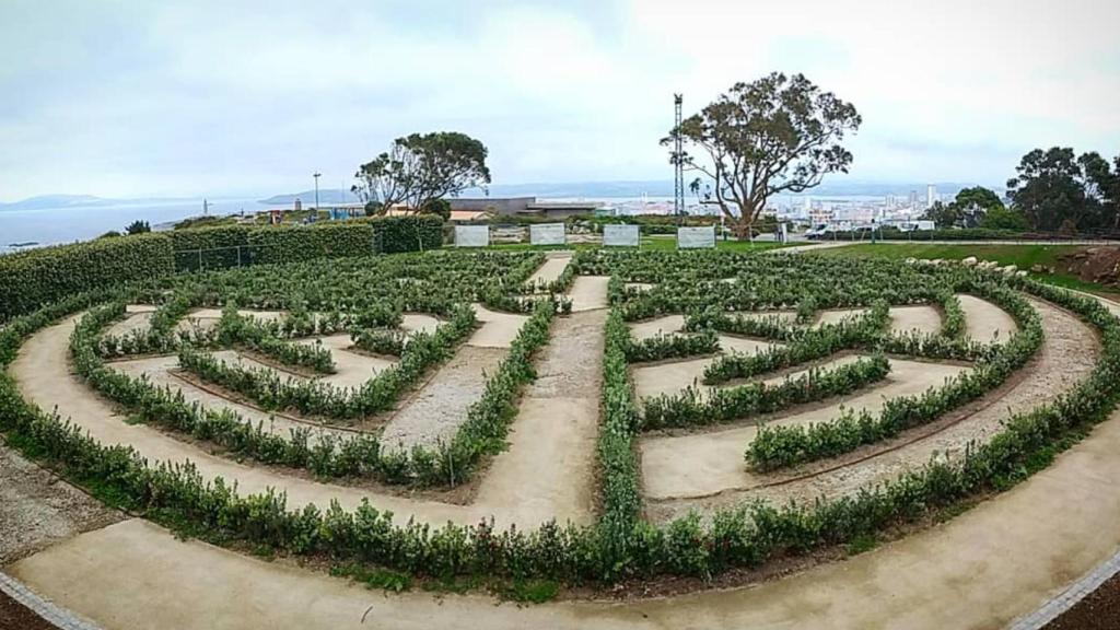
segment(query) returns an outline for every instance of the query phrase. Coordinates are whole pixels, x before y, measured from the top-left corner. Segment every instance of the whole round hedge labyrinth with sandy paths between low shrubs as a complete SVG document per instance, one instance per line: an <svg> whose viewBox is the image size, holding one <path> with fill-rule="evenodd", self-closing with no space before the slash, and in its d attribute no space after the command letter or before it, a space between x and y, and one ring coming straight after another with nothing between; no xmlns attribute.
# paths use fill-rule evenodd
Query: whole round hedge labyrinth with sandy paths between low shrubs
<svg viewBox="0 0 1120 630"><path fill-rule="evenodd" d="M1120 396L1109 308L998 269L300 232L251 265L40 254L84 267L65 285L0 259L6 442L183 536L363 580L699 587L1006 490Z"/></svg>

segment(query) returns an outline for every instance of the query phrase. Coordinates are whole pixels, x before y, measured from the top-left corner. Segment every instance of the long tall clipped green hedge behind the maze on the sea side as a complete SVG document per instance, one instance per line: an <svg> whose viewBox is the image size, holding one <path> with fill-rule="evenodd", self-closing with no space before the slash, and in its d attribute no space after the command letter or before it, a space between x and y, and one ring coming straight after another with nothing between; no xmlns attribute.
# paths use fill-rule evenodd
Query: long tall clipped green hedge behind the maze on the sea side
<svg viewBox="0 0 1120 630"><path fill-rule="evenodd" d="M442 220L429 215L223 225L41 248L0 256L0 322L68 295L175 271L428 250L442 240Z"/></svg>

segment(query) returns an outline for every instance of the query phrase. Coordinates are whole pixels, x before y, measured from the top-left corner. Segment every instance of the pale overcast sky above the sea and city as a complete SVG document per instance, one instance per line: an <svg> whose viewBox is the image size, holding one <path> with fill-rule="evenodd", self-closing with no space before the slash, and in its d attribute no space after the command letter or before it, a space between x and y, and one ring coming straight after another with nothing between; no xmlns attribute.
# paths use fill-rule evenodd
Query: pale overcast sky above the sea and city
<svg viewBox="0 0 1120 630"><path fill-rule="evenodd" d="M0 0L0 201L348 186L413 131L495 183L669 179L657 140L803 72L864 126L852 177L1001 184L1120 152L1120 0Z"/></svg>

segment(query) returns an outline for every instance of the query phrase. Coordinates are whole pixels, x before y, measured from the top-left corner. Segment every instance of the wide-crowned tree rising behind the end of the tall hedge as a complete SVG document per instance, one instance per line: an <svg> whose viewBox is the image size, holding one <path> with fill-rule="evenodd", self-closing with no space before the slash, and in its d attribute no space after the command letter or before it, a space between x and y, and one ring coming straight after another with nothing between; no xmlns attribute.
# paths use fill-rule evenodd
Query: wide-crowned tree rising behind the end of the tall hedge
<svg viewBox="0 0 1120 630"><path fill-rule="evenodd" d="M393 140L390 149L363 164L351 191L366 207L384 213L403 204L416 212L431 202L458 196L491 182L486 146L454 131L413 133Z"/></svg>

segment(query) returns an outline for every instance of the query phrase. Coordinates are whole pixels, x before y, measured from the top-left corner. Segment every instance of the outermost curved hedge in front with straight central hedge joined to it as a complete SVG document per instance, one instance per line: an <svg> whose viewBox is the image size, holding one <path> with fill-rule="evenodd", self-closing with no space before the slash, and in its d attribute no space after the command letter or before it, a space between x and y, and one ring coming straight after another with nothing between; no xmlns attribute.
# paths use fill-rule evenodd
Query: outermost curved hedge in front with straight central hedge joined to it
<svg viewBox="0 0 1120 630"><path fill-rule="evenodd" d="M615 382L625 373L626 332L615 315L608 319L605 361L610 369L604 391L608 405L600 435L605 513L594 527L545 524L532 531L496 531L486 522L395 527L389 515L368 504L353 511L338 506L291 510L276 492L242 497L226 483L204 481L189 464L152 467L128 447L100 445L57 416L27 405L7 374L0 376L0 429L11 445L60 466L73 479L96 481L118 502L165 522L189 524L190 531L218 540L421 575L551 577L571 583L660 574L711 576L874 535L978 492L1007 488L1044 466L1071 429L1082 430L1105 418L1120 393L1120 322L1095 302L1068 291L1023 286L1076 311L1101 330L1104 353L1089 379L1053 404L1012 418L990 443L960 460L939 460L834 500L780 508L759 502L718 511L710 525L696 513L666 526L634 517L640 503L628 498L627 490L635 483L633 427L626 425L632 407L625 388ZM20 322L17 341L49 321L37 316Z"/></svg>

